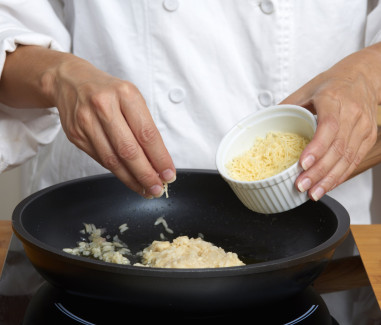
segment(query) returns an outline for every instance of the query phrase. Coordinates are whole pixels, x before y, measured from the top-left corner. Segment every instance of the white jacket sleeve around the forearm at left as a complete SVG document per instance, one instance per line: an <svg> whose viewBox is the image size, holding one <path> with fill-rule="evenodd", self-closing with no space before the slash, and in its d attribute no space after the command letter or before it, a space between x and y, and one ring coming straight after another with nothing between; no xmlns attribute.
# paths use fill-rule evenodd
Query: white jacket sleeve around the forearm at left
<svg viewBox="0 0 381 325"><path fill-rule="evenodd" d="M0 78L6 55L18 45L70 50L59 0L0 0ZM60 130L56 108L14 109L0 104L0 173L35 156Z"/></svg>

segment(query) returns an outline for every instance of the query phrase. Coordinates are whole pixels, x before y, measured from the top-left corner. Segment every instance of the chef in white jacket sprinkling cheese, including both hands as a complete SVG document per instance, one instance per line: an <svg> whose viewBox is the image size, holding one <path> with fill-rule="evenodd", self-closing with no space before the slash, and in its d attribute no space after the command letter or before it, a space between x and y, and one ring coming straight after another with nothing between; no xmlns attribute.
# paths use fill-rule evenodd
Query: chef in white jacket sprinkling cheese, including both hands
<svg viewBox="0 0 381 325"><path fill-rule="evenodd" d="M372 172L343 182L376 139L379 42L372 0L0 0L0 172L22 165L24 196L112 172L160 197L176 168L215 169L237 121L290 103L318 118L295 186L370 223ZM369 288L323 298L340 324L379 317Z"/></svg>

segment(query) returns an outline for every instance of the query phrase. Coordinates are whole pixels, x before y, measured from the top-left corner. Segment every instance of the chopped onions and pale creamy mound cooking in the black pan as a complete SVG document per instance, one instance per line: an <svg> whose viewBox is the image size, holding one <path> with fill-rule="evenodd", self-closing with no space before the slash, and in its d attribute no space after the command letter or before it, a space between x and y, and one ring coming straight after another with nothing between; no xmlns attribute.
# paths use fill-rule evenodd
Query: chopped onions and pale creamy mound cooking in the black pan
<svg viewBox="0 0 381 325"><path fill-rule="evenodd" d="M159 217L154 225L162 224L167 233L173 234L168 227L164 216ZM77 256L89 256L105 262L131 265L128 255L132 255L127 245L117 235L112 241L102 237L104 229L98 229L93 224L84 224L81 233L88 234L88 242L81 241L75 248L64 248L63 251ZM120 233L128 230L127 224L119 226ZM161 241L154 240L151 245L136 255L141 256L141 263L134 266L159 267L159 268L218 268L245 265L236 253L225 252L203 239L203 234L198 238L179 236L172 242L165 240L160 234Z"/></svg>

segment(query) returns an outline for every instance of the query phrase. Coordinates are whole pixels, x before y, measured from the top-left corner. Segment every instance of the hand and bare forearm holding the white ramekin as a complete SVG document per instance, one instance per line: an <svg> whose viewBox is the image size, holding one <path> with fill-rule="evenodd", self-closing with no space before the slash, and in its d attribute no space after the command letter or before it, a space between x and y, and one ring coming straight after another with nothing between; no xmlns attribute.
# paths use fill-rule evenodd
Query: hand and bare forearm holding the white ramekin
<svg viewBox="0 0 381 325"><path fill-rule="evenodd" d="M380 103L381 43L344 58L281 102L317 115L316 133L299 160L299 191L317 201L351 175L376 141Z"/></svg>

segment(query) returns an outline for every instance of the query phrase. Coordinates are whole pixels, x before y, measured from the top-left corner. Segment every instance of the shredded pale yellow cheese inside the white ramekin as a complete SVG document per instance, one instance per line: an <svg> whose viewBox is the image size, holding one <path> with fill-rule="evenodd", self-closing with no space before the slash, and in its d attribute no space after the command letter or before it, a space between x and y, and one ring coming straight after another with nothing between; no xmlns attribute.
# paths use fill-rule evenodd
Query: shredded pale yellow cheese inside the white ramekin
<svg viewBox="0 0 381 325"><path fill-rule="evenodd" d="M296 133L268 132L257 137L254 145L226 164L230 177L240 181L257 181L274 176L298 161L309 143Z"/></svg>

